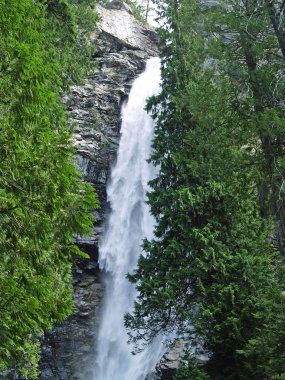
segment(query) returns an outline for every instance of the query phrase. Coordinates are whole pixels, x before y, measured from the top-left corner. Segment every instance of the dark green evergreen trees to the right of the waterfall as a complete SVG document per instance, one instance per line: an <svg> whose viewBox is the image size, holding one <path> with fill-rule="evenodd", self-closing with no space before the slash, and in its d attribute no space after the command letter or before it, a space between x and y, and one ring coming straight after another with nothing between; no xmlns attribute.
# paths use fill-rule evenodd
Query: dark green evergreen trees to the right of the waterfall
<svg viewBox="0 0 285 380"><path fill-rule="evenodd" d="M285 372L284 2L157 0L155 238L129 275L133 341L189 339L177 379ZM203 363L195 361L206 353Z"/></svg>

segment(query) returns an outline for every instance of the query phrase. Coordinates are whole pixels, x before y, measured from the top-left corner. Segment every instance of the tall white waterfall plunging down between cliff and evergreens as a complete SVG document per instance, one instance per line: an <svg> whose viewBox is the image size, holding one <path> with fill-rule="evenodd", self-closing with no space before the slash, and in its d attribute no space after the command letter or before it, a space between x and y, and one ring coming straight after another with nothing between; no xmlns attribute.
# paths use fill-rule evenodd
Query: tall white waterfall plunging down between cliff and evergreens
<svg viewBox="0 0 285 380"><path fill-rule="evenodd" d="M106 291L93 380L144 380L164 353L158 339L144 352L132 355L123 320L136 297L126 273L136 267L142 239L151 238L153 233L154 221L145 200L148 182L155 174L154 167L146 162L154 123L144 108L147 98L158 94L159 82L160 61L151 58L122 109L118 158L107 188L111 213L99 247Z"/></svg>

